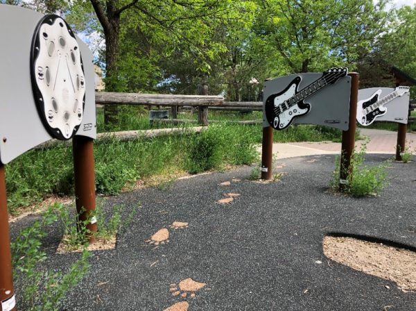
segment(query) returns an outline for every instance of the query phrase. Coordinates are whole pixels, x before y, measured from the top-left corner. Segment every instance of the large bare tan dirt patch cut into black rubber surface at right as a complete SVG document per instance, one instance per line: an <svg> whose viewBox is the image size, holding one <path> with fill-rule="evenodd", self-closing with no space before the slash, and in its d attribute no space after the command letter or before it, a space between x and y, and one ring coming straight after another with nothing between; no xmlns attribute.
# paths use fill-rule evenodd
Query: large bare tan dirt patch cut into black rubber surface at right
<svg viewBox="0 0 416 311"><path fill-rule="evenodd" d="M397 283L403 292L416 292L416 253L352 237L324 237L324 254L365 274Z"/></svg>

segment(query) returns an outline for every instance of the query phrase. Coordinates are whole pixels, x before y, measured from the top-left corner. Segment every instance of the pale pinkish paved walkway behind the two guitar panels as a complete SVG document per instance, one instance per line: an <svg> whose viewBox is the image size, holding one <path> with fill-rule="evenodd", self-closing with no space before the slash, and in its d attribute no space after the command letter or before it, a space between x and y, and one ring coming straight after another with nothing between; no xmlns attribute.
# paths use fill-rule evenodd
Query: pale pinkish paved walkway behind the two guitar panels
<svg viewBox="0 0 416 311"><path fill-rule="evenodd" d="M368 137L367 153L395 154L397 132L361 128L361 136ZM361 148L365 140L356 142L356 149ZM407 133L406 147L416 150L416 134ZM273 153L277 159L293 158L304 155L340 154L341 143L338 142L291 142L273 144Z"/></svg>

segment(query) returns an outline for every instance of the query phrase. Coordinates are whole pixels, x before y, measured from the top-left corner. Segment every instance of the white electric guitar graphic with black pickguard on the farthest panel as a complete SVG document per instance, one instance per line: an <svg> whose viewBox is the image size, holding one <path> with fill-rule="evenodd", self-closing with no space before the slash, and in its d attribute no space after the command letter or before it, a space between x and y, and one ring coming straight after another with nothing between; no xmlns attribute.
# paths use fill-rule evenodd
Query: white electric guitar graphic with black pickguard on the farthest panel
<svg viewBox="0 0 416 311"><path fill-rule="evenodd" d="M408 86L399 86L396 87L393 92L384 96L382 99L379 99L381 90L376 90L372 96L367 99L358 101L357 103L357 121L363 126L368 126L372 124L376 118L385 115L387 108L384 107L386 103L389 103L393 99L403 96L409 92L410 87Z"/></svg>

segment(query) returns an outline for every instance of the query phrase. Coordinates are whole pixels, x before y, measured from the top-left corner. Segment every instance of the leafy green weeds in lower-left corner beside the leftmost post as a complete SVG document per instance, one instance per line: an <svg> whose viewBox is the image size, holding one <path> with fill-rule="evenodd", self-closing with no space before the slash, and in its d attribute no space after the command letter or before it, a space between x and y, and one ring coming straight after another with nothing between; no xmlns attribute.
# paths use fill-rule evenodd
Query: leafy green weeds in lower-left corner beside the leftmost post
<svg viewBox="0 0 416 311"><path fill-rule="evenodd" d="M89 269L88 251L83 251L66 273L42 269L47 256L42 250L41 240L46 237L46 227L58 221L57 213L62 210L62 205L51 205L41 220L21 230L11 244L15 283L23 289L19 304L25 305L25 310L59 310L69 290L83 279Z"/></svg>

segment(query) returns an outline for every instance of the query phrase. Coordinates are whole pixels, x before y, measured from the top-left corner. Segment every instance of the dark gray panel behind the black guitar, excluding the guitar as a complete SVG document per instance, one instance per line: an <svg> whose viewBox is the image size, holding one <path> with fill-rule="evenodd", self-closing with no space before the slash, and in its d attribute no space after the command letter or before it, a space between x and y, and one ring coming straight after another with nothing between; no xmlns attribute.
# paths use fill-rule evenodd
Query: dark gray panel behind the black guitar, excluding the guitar
<svg viewBox="0 0 416 311"><path fill-rule="evenodd" d="M270 124L266 119L266 100L272 94L283 92L296 78L300 78L298 90L303 90L322 77L322 73L292 74L267 81L263 91L263 127ZM349 97L351 94L351 77L343 76L333 84L326 85L315 94L308 96L304 102L309 103L306 115L295 117L293 124L316 124L330 126L347 131L349 128Z"/></svg>

